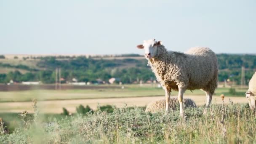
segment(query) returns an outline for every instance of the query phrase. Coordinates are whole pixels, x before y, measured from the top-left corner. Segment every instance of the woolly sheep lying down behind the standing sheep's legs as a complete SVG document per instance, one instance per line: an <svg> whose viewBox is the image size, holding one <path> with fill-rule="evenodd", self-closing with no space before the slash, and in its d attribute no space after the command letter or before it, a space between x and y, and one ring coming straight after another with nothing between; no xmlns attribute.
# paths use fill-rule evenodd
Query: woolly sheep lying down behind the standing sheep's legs
<svg viewBox="0 0 256 144"><path fill-rule="evenodd" d="M195 101L193 101L192 99L183 99L183 104L185 106L185 108L187 107L197 107L195 104ZM176 110L177 107L179 107L179 101L177 98L170 98L169 101L169 108ZM163 111L166 108L166 103L165 103L165 99L159 100L159 101L153 101L150 104L147 105L147 108L145 110L145 112L159 112L159 111Z"/></svg>

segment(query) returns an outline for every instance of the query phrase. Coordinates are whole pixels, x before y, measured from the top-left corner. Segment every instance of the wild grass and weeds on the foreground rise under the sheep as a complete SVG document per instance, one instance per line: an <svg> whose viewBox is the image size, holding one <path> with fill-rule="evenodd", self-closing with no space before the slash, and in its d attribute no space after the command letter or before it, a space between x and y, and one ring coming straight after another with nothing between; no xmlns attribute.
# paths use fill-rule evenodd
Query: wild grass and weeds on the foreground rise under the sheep
<svg viewBox="0 0 256 144"><path fill-rule="evenodd" d="M212 105L206 115L202 115L203 109L186 109L185 118L179 117L179 111L165 115L123 107L114 109L113 113L98 111L87 116L53 119L51 123L31 121L29 127L21 125L11 134L0 135L0 143L256 142L256 118L248 104Z"/></svg>

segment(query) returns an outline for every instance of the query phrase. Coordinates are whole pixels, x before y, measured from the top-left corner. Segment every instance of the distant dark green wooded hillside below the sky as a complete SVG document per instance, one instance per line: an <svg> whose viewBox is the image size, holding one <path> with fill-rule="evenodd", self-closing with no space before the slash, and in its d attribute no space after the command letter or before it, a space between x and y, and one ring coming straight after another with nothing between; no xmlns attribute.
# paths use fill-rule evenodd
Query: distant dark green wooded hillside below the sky
<svg viewBox="0 0 256 144"><path fill-rule="evenodd" d="M231 80L240 84L241 67L245 67L245 82L251 79L256 70L255 55L218 54L219 61L219 81ZM76 78L79 82L93 82L96 79L108 81L111 77L120 78L122 83L133 83L137 80L155 80L155 75L147 66L145 59L92 59L85 56L73 58L65 57L59 59L54 56L44 57L37 67L44 70L32 69L26 65L13 66L0 63L0 67L13 67L25 69L30 72L21 74L19 71L0 74L0 83L7 83L10 80L21 81L41 81L43 83L55 82L55 69L61 68L61 77L67 81Z"/></svg>

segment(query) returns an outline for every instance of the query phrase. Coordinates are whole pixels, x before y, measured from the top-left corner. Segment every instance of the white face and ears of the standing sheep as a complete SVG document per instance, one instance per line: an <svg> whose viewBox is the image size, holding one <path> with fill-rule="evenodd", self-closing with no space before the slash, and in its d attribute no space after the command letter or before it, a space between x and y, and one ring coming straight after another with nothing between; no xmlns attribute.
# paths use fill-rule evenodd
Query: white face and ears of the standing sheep
<svg viewBox="0 0 256 144"><path fill-rule="evenodd" d="M144 40L143 45L137 45L137 48L145 50L145 58L146 59L152 59L157 54L157 46L162 45L162 41L155 41L155 39L152 40Z"/></svg>

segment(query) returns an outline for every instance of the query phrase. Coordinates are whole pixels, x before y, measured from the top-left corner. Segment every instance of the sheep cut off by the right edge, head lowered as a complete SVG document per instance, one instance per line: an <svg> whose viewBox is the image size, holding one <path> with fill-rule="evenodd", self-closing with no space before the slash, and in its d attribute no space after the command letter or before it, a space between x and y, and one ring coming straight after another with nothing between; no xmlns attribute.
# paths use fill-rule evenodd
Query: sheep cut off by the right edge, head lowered
<svg viewBox="0 0 256 144"><path fill-rule="evenodd" d="M256 96L256 72L251 77L251 80L249 81L249 89L245 93L246 98L248 99L249 105L251 109L255 109L255 96Z"/></svg>

